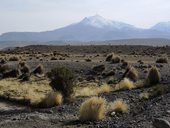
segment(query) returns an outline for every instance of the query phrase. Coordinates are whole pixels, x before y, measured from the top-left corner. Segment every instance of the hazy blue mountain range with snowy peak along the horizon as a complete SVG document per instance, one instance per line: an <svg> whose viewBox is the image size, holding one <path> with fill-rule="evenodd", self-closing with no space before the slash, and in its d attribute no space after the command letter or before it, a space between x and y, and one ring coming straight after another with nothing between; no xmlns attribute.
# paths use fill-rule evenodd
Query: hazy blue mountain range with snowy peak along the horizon
<svg viewBox="0 0 170 128"><path fill-rule="evenodd" d="M123 22L107 20L99 15L86 17L78 23L44 32L8 32L0 41L106 41L122 39L170 39L170 22L161 22L149 29L137 28Z"/></svg>

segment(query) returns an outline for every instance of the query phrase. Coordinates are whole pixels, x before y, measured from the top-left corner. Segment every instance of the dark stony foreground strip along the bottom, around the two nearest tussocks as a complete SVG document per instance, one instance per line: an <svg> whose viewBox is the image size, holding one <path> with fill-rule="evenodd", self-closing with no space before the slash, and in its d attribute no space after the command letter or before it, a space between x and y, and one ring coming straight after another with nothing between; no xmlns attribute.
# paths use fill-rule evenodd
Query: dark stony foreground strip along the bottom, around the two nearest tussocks
<svg viewBox="0 0 170 128"><path fill-rule="evenodd" d="M139 93L146 89L121 91L102 94L108 101L116 98L125 99L130 104L129 114L107 115L104 121L80 122L79 106L84 98L78 98L75 103L56 106L49 109L22 108L2 112L1 128L56 128L56 127L113 127L113 128L152 128L155 118L170 121L170 94L149 101L141 101Z"/></svg>

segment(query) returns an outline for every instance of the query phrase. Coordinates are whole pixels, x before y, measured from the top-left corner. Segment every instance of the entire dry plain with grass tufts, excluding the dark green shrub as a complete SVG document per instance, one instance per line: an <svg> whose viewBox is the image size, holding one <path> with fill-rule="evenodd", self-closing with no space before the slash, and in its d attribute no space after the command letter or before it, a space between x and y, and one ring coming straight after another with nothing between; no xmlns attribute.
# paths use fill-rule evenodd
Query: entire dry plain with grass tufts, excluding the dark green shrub
<svg viewBox="0 0 170 128"><path fill-rule="evenodd" d="M31 45L1 50L0 128L169 128L169 58L169 46ZM22 65L29 73L11 73ZM43 71L36 73L38 66ZM56 67L74 74L69 100L67 89L58 92L51 86L48 74Z"/></svg>

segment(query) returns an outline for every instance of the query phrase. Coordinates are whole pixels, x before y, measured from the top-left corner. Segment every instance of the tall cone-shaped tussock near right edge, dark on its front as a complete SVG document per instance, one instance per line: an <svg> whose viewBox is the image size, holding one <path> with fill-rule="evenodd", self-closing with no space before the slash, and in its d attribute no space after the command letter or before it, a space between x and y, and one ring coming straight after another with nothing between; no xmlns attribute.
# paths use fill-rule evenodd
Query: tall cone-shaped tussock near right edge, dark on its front
<svg viewBox="0 0 170 128"><path fill-rule="evenodd" d="M147 77L148 86L158 84L160 82L160 79L161 79L160 72L156 67L152 67Z"/></svg>

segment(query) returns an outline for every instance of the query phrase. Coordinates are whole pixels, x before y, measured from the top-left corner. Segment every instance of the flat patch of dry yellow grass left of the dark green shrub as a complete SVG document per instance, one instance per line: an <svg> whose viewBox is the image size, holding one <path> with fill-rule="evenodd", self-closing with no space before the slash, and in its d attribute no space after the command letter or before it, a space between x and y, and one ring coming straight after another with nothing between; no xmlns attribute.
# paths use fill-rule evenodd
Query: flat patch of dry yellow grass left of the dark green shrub
<svg viewBox="0 0 170 128"><path fill-rule="evenodd" d="M52 91L47 80L31 78L29 82L20 82L16 78L3 79L0 81L0 97L18 102L27 102L37 105Z"/></svg>

